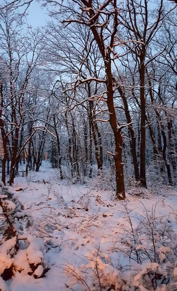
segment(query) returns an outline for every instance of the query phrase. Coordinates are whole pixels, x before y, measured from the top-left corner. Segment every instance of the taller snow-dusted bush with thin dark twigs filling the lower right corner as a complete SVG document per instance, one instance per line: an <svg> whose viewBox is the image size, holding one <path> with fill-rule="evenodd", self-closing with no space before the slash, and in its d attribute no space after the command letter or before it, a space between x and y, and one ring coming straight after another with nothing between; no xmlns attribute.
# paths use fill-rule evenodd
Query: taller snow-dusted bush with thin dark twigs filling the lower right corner
<svg viewBox="0 0 177 291"><path fill-rule="evenodd" d="M129 259L130 280L138 291L173 290L170 288L177 283L177 233L171 214L156 216L156 206L151 212L144 206L145 214L138 223L132 210L124 206L125 223L120 225L114 242L113 252L121 252Z"/></svg>

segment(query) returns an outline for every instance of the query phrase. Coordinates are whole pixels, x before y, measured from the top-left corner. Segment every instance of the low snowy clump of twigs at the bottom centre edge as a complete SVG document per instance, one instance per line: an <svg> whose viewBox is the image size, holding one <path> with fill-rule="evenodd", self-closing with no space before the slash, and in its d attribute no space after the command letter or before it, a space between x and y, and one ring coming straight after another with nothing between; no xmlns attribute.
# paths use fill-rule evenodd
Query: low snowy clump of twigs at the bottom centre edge
<svg viewBox="0 0 177 291"><path fill-rule="evenodd" d="M79 267L73 265L62 266L64 274L72 282L67 286L70 290L77 290L82 285L84 291L129 291L120 277L120 270L113 266L111 257L100 250L90 252L89 256L83 257L83 264ZM122 289L122 287L125 288ZM127 288L127 289L126 289Z"/></svg>

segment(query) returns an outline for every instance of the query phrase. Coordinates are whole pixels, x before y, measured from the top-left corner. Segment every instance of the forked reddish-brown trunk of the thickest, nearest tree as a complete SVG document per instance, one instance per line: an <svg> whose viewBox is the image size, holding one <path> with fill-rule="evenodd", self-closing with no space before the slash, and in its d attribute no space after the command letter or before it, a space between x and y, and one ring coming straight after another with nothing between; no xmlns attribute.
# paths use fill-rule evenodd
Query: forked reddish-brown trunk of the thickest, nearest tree
<svg viewBox="0 0 177 291"><path fill-rule="evenodd" d="M125 198L125 185L124 185L124 172L123 172L123 163L122 163L122 133L121 133L121 127L118 126L117 120L116 120L116 113L115 108L113 104L113 76L112 76L112 52L113 52L113 44L114 44L114 37L117 32L117 26L118 26L118 9L117 9L117 1L113 0L113 18L114 18L114 24L113 24L113 32L110 38L109 45L104 43L104 36L103 36L103 27L100 29L97 28L96 23L98 21L99 13L95 10L95 7L93 7L92 1L85 1L81 0L82 4L87 8L87 13L89 15L89 21L85 20L84 18L82 22L85 26L90 27L90 30L93 33L94 39L97 43L98 49L102 55L102 58L104 60L104 67L105 67L105 73L106 73L106 89L107 89L107 105L109 110L109 122L111 125L111 128L113 130L114 135L114 142L115 142L115 152L113 154L114 162L115 162L115 175L116 175L116 195L118 199L124 199ZM102 9L106 8L111 1L106 1L101 6ZM111 15L111 14L110 14ZM107 24L105 24L107 25Z"/></svg>

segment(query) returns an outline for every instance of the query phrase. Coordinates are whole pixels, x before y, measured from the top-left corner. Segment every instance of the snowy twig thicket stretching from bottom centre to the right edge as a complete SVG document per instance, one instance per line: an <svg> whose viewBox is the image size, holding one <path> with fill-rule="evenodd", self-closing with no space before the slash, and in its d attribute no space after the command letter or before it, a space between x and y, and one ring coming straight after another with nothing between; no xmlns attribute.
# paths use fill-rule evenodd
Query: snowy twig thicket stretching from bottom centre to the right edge
<svg viewBox="0 0 177 291"><path fill-rule="evenodd" d="M72 282L68 288L76 291L81 284L84 291L176 291L174 216L157 216L156 204L151 212L144 208L136 220L136 213L122 205L124 216L112 247L105 251L100 241L82 264L62 266Z"/></svg>

